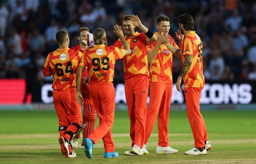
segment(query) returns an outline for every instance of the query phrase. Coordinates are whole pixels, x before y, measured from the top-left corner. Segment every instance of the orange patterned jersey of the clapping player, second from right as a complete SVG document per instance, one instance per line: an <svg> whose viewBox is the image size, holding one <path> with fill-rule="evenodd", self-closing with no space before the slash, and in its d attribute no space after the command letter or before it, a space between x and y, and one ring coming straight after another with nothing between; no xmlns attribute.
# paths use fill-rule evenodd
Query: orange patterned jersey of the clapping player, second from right
<svg viewBox="0 0 256 164"><path fill-rule="evenodd" d="M159 36L158 33L155 33L156 36ZM170 43L174 47L179 48L172 36L168 35L171 40ZM152 45L148 45L149 50L153 50L156 47L157 41L154 41ZM153 63L150 64L150 81L151 82L163 82L163 83L173 83L172 81L172 52L165 46L161 45L157 52L157 56L154 59Z"/></svg>

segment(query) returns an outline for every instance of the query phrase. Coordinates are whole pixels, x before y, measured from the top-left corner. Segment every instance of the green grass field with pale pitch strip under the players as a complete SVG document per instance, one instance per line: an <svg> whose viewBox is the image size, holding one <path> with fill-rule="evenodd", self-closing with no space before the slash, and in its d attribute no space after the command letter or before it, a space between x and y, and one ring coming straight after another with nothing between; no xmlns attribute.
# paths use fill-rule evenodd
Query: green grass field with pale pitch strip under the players
<svg viewBox="0 0 256 164"><path fill-rule="evenodd" d="M64 158L58 144L55 111L0 111L0 163L256 163L256 110L202 112L212 149L205 155L188 156L193 136L185 111L170 113L170 145L177 154L156 154L157 128L148 141L148 155L125 156L131 147L127 111L116 111L112 128L118 158L103 158L102 141L95 145L93 158L76 148L76 158ZM79 140L81 144L81 139Z"/></svg>

